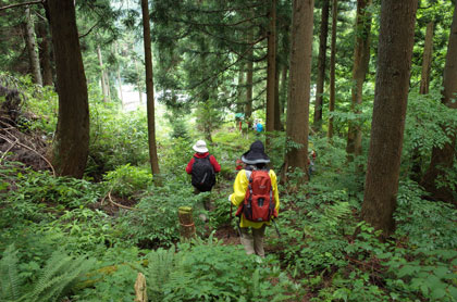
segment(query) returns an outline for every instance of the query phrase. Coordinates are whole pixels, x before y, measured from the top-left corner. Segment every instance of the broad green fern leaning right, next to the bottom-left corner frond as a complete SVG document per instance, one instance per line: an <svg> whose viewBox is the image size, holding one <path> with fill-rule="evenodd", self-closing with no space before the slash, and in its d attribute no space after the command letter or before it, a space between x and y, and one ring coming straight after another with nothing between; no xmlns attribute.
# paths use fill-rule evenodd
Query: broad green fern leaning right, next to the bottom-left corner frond
<svg viewBox="0 0 457 302"><path fill-rule="evenodd" d="M24 294L21 301L47 302L57 301L69 292L81 276L92 269L94 260L72 257L62 250L52 253L34 289Z"/></svg>

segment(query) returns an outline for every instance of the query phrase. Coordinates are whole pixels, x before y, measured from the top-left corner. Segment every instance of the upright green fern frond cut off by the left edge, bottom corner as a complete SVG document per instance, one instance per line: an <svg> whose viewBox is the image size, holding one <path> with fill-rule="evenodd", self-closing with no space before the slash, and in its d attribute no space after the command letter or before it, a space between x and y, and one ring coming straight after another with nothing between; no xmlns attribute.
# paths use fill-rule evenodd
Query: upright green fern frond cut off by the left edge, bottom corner
<svg viewBox="0 0 457 302"><path fill-rule="evenodd" d="M0 301L16 301L20 298L17 262L17 250L11 244L4 250L0 261Z"/></svg>

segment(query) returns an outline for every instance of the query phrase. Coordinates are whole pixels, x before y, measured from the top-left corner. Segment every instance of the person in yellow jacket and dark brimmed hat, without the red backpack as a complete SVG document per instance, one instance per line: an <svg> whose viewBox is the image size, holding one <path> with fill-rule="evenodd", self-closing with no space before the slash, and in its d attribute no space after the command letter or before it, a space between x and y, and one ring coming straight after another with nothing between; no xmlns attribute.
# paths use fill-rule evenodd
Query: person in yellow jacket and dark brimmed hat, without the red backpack
<svg viewBox="0 0 457 302"><path fill-rule="evenodd" d="M270 222L252 222L248 221L244 214L239 213L239 206L243 205L247 191L249 189L249 176L254 171L268 171L271 179L271 194L274 200L274 210L277 215L280 210L280 197L277 193L276 174L272 169L267 168L270 162L269 156L264 153L263 143L260 140L252 142L249 151L242 155L242 161L246 163L246 167L238 172L235 183L233 185L234 192L228 197L228 201L238 207L237 214L240 214L240 240L247 254L257 254L261 257L264 256L263 251L263 236L265 226Z"/></svg>

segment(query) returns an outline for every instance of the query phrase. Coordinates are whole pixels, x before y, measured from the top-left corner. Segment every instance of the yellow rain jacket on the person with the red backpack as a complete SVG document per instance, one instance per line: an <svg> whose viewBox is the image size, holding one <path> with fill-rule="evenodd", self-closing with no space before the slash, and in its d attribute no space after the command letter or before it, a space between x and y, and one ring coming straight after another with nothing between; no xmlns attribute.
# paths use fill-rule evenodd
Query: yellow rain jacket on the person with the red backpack
<svg viewBox="0 0 457 302"><path fill-rule="evenodd" d="M270 169L269 175L271 178L271 187L273 189L273 198L276 203L276 213L280 213L280 194L277 193L277 180L276 180L276 174L274 171ZM230 201L233 203L233 205L238 209L238 206L244 202L246 191L248 189L249 179L246 176L246 169L242 169L238 172L235 178L235 183L233 184L233 194L230 196ZM239 223L240 227L254 227L254 228L261 228L264 224L270 225L269 222L250 222L248 219L245 219L245 217L242 214L242 222Z"/></svg>

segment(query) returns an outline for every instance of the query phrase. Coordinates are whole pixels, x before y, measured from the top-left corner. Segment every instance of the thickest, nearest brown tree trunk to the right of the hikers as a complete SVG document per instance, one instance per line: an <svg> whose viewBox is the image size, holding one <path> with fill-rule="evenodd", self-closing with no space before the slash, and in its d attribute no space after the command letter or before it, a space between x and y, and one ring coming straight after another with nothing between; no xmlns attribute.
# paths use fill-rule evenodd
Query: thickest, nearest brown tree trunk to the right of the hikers
<svg viewBox="0 0 457 302"><path fill-rule="evenodd" d="M378 48L362 217L384 236L395 229L393 213L409 89L417 0L384 0ZM388 164L386 163L388 161Z"/></svg>

